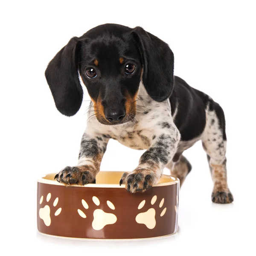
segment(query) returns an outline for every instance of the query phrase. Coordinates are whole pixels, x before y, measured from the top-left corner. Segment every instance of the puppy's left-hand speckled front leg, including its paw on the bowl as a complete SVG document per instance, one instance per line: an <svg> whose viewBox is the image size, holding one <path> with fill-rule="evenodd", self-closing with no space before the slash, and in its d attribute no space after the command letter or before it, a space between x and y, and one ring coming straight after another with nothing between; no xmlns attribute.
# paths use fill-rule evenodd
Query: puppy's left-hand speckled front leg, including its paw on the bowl
<svg viewBox="0 0 256 256"><path fill-rule="evenodd" d="M96 183L96 175L109 138L108 135L96 134L87 129L81 140L78 165L65 167L55 179L65 185Z"/></svg>

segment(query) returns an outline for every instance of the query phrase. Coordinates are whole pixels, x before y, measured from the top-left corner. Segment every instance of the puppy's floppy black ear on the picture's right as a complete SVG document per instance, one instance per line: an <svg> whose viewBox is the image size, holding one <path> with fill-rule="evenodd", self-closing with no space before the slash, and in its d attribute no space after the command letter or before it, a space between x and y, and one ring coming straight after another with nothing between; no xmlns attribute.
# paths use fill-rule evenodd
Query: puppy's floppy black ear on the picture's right
<svg viewBox="0 0 256 256"><path fill-rule="evenodd" d="M143 84L149 96L157 102L172 93L174 56L168 44L141 27L133 30L143 62Z"/></svg>

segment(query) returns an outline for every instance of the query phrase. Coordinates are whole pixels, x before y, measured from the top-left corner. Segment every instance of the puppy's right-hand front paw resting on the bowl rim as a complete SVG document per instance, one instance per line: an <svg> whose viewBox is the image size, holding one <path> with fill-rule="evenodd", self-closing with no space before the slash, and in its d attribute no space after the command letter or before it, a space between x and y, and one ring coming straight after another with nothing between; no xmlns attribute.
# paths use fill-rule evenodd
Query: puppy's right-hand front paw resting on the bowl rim
<svg viewBox="0 0 256 256"><path fill-rule="evenodd" d="M125 184L125 188L131 192L146 191L157 183L160 177L156 172L148 169L134 170L133 172L125 172L120 179L120 186Z"/></svg>

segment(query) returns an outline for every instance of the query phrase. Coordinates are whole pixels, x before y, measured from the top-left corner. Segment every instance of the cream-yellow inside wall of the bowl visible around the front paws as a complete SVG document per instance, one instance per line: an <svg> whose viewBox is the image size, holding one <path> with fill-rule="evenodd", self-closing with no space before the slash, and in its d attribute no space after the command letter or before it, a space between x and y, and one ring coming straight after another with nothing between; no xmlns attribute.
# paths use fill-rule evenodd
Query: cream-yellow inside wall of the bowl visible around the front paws
<svg viewBox="0 0 256 256"><path fill-rule="evenodd" d="M101 171L96 176L96 184L118 184L122 177L123 172L111 172L111 171ZM54 180L56 173L47 174L43 177L44 180ZM177 181L174 177L169 175L162 175L158 183L173 183Z"/></svg>

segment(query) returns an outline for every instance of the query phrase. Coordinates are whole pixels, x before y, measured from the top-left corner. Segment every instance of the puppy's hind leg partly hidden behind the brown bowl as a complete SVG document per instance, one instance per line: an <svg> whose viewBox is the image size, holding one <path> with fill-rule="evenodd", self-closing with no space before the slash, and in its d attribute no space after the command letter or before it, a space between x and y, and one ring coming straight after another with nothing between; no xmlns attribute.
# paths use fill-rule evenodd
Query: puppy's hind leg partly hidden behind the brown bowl
<svg viewBox="0 0 256 256"><path fill-rule="evenodd" d="M186 159L186 157L182 155L182 153L176 153L172 161L166 165L166 168L168 168L171 171L172 176L180 180L181 186L186 178L186 175L188 175L189 172L191 171L192 166Z"/></svg>

